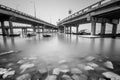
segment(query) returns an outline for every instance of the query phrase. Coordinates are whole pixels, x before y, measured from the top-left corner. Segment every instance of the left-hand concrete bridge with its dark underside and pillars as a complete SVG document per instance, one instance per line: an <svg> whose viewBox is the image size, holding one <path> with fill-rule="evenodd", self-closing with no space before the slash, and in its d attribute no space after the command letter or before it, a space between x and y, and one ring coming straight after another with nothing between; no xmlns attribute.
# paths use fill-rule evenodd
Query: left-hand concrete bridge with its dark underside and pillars
<svg viewBox="0 0 120 80"><path fill-rule="evenodd" d="M1 22L1 29L3 35L7 34L5 21L9 22L9 26L7 26L7 28L9 27L10 29L9 34L14 34L13 28L23 28L23 27L13 27L13 22L29 24L31 25L31 28L33 28L33 31L36 31L36 27L37 28L42 27L43 31L45 28L57 30L56 26L51 23L48 23L46 21L43 21L41 19L23 13L21 11L12 9L10 7L0 5L0 22Z"/></svg>

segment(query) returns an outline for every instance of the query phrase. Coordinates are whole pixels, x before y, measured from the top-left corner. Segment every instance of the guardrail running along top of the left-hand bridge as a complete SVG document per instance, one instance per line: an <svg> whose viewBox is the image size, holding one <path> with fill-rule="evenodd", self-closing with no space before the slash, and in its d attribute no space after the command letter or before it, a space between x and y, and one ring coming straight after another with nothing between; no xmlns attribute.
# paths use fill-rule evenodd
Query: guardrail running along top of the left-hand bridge
<svg viewBox="0 0 120 80"><path fill-rule="evenodd" d="M54 26L54 25L52 25L52 24L50 24L50 23L48 23L48 22L45 22L45 21L43 21L43 20L41 20L41 19L35 18L35 17L33 17L33 16L29 15L29 14L23 13L23 12L21 12L21 11L15 10L15 9L13 9L13 8L7 7L7 6L2 5L2 4L0 4L0 8L5 9L5 10L8 10L8 11L12 11L12 12L14 12L14 13L17 13L17 14L20 14L20 15L23 15L23 16L26 16L26 17L29 17L29 18L38 20L38 21L41 21L41 22L43 22L43 23L45 23L45 24L47 24L47 25Z"/></svg>

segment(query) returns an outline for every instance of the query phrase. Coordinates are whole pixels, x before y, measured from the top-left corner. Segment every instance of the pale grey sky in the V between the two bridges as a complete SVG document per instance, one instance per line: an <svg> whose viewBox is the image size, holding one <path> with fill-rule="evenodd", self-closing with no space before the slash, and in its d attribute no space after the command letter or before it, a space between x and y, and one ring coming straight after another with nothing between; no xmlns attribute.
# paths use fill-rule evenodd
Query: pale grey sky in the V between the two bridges
<svg viewBox="0 0 120 80"><path fill-rule="evenodd" d="M69 9L74 13L99 0L0 0L0 4L34 16L34 1L37 18L56 24L68 16Z"/></svg>

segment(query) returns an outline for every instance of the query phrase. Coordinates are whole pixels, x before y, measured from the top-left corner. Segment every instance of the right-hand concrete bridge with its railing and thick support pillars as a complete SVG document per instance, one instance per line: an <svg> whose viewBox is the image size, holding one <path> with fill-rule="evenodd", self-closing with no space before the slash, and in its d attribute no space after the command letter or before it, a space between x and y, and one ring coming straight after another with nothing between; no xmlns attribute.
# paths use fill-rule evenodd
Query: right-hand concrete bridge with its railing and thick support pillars
<svg viewBox="0 0 120 80"><path fill-rule="evenodd" d="M92 4L66 18L58 23L59 29L66 31L66 28L78 27L80 24L91 23L91 35L96 34L96 23L101 23L100 35L105 34L106 23L113 25L112 34L116 36L117 25L120 18L120 0L101 0Z"/></svg>

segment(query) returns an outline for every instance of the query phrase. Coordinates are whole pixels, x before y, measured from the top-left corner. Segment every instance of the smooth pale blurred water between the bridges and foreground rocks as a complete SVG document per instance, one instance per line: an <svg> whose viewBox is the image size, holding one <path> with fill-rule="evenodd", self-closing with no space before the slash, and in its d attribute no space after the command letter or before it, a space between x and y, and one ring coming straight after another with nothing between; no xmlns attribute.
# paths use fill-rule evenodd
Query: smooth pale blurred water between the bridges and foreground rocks
<svg viewBox="0 0 120 80"><path fill-rule="evenodd" d="M21 57L37 56L45 62L76 60L88 55L101 54L113 60L119 60L120 38L82 38L76 35L51 34L44 38L36 37L0 37L0 52L21 50Z"/></svg>

